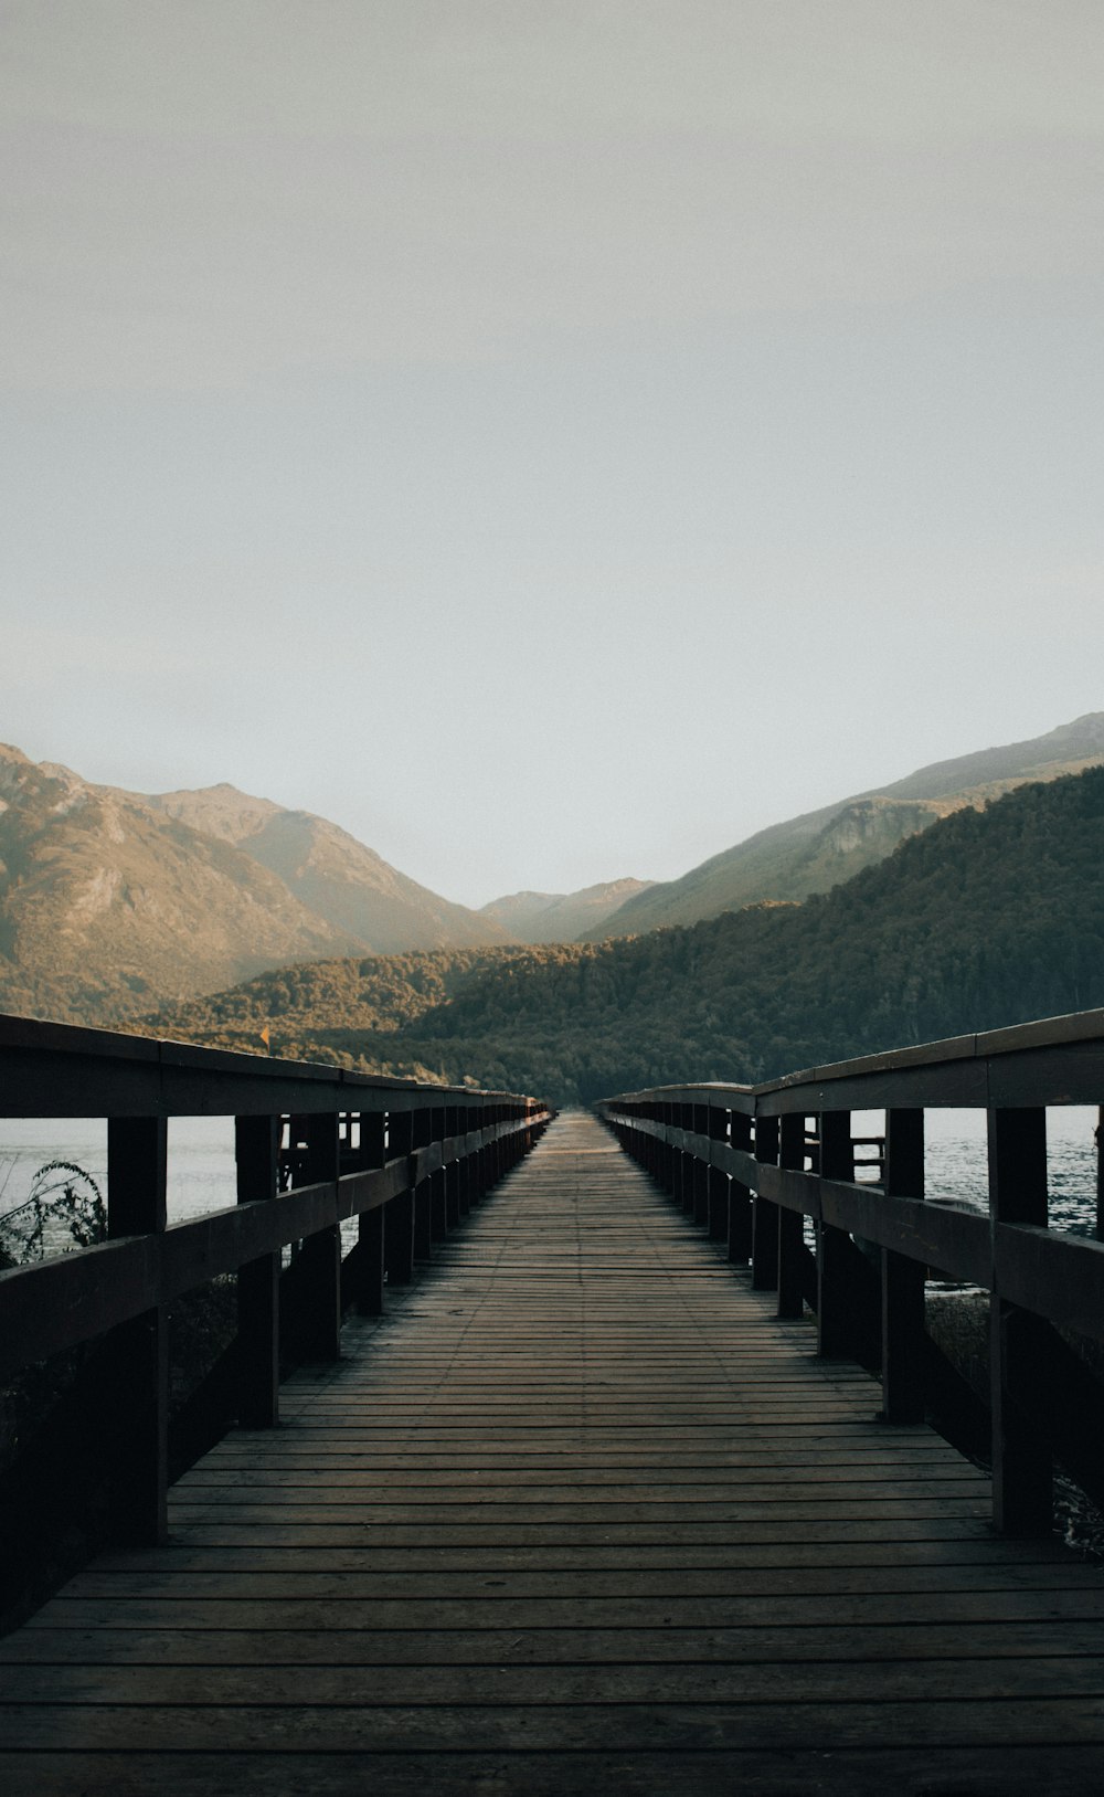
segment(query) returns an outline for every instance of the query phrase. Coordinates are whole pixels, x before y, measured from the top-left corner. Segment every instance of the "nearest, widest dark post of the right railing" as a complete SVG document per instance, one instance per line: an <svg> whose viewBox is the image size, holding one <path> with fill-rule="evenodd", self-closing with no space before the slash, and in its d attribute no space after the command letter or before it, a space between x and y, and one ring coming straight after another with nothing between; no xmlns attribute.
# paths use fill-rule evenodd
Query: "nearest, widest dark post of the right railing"
<svg viewBox="0 0 1104 1797"><path fill-rule="evenodd" d="M989 1111L987 1120L993 1229L1000 1224L1047 1227L1047 1112L1041 1107ZM996 1290L989 1306L993 1524L1002 1535L1050 1535L1054 1466L1050 1447L1038 1432L1038 1420L1047 1414L1048 1326L1005 1303Z"/></svg>

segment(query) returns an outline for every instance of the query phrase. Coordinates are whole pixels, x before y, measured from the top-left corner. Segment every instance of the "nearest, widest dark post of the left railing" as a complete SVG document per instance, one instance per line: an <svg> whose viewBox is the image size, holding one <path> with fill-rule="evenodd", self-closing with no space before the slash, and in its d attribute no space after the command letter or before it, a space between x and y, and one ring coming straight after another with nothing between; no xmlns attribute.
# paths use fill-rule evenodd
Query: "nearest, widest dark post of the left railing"
<svg viewBox="0 0 1104 1797"><path fill-rule="evenodd" d="M163 1235L167 1125L108 1118L108 1235ZM111 1332L111 1375L126 1418L115 1463L111 1533L156 1545L169 1533L169 1321L162 1305Z"/></svg>

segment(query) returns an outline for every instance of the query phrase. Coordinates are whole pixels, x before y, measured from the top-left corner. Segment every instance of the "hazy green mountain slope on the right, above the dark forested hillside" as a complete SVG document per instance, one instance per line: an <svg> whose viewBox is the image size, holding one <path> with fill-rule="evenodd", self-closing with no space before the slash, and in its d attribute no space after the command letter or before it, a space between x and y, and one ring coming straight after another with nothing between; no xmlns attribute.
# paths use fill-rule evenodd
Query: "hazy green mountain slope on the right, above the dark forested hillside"
<svg viewBox="0 0 1104 1797"><path fill-rule="evenodd" d="M1100 762L1104 712L1090 712L1029 742L933 762L905 780L774 823L682 879L634 895L585 934L632 936L666 924L697 924L763 898L829 891L951 810L977 809L1027 780L1056 780Z"/></svg>

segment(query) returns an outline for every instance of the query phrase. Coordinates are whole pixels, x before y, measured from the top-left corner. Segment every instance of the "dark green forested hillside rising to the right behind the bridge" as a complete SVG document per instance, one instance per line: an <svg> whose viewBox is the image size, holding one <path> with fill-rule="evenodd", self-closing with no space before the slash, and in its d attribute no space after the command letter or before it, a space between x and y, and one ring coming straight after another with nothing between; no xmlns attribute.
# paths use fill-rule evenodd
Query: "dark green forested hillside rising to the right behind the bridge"
<svg viewBox="0 0 1104 1797"><path fill-rule="evenodd" d="M601 945L329 961L153 1028L544 1093L754 1080L1104 1005L1104 769L959 810L828 897Z"/></svg>

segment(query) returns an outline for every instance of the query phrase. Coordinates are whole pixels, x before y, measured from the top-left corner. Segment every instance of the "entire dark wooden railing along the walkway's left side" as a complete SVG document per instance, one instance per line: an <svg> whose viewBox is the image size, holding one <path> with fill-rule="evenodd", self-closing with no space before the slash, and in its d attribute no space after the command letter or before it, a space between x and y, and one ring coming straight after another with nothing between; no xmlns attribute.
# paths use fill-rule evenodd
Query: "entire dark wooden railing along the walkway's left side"
<svg viewBox="0 0 1104 1797"><path fill-rule="evenodd" d="M512 1093L0 1017L0 1116L108 1121L108 1240L0 1272L0 1380L81 1360L0 1474L11 1616L36 1542L48 1558L61 1535L163 1540L171 1475L232 1420L275 1425L282 1368L336 1359L343 1312L379 1314L549 1112ZM235 1118L237 1204L167 1226L167 1120L181 1116ZM237 1333L171 1425L167 1306L221 1274L237 1274Z"/></svg>

